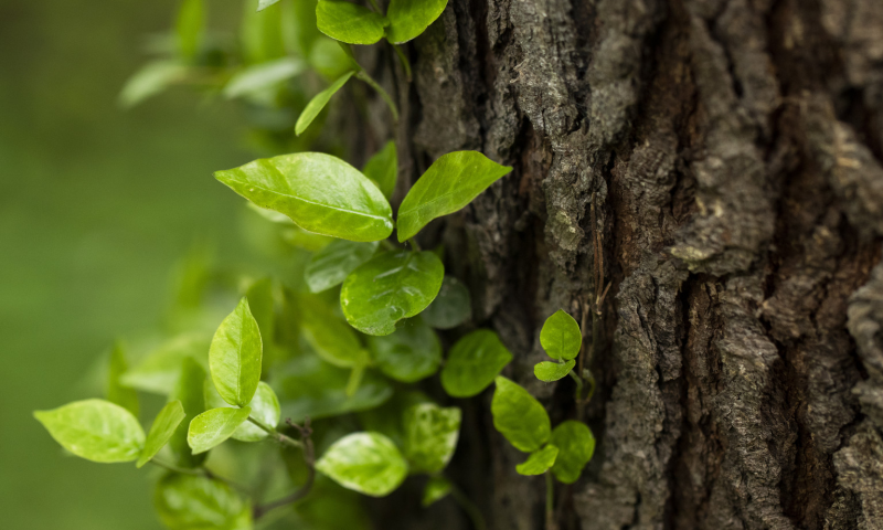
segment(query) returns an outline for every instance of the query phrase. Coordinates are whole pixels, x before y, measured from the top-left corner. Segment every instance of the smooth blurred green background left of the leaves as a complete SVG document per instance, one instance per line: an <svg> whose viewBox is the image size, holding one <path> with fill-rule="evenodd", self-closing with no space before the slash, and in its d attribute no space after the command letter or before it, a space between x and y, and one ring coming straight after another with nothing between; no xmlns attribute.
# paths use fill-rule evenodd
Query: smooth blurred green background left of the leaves
<svg viewBox="0 0 883 530"><path fill-rule="evenodd" d="M161 528L146 474L64 456L31 412L94 395L98 356L156 327L194 240L221 262L247 254L241 202L211 177L254 158L235 108L185 89L116 102L175 4L0 0L2 528Z"/></svg>

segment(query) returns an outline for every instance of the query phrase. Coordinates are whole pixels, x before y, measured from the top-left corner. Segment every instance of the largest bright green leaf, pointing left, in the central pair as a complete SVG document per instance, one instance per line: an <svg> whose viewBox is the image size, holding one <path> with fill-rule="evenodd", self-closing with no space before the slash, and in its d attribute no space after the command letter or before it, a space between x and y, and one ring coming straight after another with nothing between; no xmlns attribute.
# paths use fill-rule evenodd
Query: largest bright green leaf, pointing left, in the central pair
<svg viewBox="0 0 883 530"><path fill-rule="evenodd" d="M298 226L350 241L392 233L392 209L365 176L321 152L258 159L217 171L215 178L258 206L288 215Z"/></svg>

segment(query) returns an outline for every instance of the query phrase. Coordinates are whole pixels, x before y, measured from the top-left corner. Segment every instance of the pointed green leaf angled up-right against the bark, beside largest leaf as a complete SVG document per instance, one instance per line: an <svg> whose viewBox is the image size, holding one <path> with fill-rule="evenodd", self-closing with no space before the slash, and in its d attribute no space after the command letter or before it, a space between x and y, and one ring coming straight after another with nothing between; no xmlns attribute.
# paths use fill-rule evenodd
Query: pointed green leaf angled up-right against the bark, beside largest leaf
<svg viewBox="0 0 883 530"><path fill-rule="evenodd" d="M398 206L398 241L407 241L426 224L454 213L512 171L478 151L442 156L423 173Z"/></svg>

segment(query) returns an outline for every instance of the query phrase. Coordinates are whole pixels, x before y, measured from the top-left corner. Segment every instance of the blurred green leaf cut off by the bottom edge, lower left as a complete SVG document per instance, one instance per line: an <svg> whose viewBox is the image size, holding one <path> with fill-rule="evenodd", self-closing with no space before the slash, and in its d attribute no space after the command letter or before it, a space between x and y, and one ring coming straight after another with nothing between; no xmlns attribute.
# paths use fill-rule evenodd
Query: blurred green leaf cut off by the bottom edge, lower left
<svg viewBox="0 0 883 530"><path fill-rule="evenodd" d="M157 483L153 506L171 530L251 530L252 507L226 484L170 473Z"/></svg>

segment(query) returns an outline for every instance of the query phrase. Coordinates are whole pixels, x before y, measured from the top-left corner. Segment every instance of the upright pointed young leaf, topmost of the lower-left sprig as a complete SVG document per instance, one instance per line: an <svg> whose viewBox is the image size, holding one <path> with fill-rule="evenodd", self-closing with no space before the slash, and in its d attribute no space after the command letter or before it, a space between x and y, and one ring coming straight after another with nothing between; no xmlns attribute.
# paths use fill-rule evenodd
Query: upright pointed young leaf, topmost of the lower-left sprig
<svg viewBox="0 0 883 530"><path fill-rule="evenodd" d="M209 348L209 367L217 393L231 405L252 401L260 381L260 330L243 297L221 322Z"/></svg>

